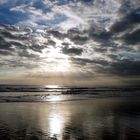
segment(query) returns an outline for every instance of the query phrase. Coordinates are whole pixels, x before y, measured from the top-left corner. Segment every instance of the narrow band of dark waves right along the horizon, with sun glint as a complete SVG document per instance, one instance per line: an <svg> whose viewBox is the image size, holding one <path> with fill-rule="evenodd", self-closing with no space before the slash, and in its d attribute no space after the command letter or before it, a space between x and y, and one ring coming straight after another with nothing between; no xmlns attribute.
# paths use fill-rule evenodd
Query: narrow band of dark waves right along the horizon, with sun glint
<svg viewBox="0 0 140 140"><path fill-rule="evenodd" d="M31 86L0 85L0 92L62 92L63 94L82 92L131 92L140 91L140 87L68 87L68 86Z"/></svg>

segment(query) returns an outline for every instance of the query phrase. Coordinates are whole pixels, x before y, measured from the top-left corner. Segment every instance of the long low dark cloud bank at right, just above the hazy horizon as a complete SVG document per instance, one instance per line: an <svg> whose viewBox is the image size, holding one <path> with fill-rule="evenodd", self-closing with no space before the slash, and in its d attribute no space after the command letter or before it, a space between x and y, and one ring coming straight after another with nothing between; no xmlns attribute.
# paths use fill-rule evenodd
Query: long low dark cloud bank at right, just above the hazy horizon
<svg viewBox="0 0 140 140"><path fill-rule="evenodd" d="M71 58L77 67L87 67L88 70L96 73L117 76L138 76L140 75L140 61L123 59L120 60L116 55L111 55L114 62L102 59Z"/></svg>

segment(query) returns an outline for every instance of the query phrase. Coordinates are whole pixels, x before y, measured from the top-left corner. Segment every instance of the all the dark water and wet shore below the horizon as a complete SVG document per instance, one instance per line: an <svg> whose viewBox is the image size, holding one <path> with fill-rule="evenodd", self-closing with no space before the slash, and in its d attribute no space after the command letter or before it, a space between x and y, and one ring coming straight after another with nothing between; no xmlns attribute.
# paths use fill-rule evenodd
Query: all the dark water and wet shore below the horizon
<svg viewBox="0 0 140 140"><path fill-rule="evenodd" d="M0 86L0 140L139 140L138 87Z"/></svg>

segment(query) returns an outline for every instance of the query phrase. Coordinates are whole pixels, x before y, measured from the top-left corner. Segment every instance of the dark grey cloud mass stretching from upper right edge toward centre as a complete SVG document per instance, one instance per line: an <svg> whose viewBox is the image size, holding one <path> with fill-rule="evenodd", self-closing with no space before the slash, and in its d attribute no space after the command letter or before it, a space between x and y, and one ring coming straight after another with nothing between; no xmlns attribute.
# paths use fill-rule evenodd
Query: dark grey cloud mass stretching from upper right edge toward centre
<svg viewBox="0 0 140 140"><path fill-rule="evenodd" d="M121 10L119 12L121 12ZM95 28L94 25L91 25L87 31L89 38L101 43L103 46L106 45L110 47L114 47L111 46L112 43L114 44L114 41L119 39L122 39L126 44L138 44L140 42L140 31L139 29L135 30L135 28L138 28L140 24L140 8L130 9L128 13L122 13L122 15L123 17L117 20L110 27L109 31L100 27ZM123 33L123 36L118 38L120 33Z"/></svg>

